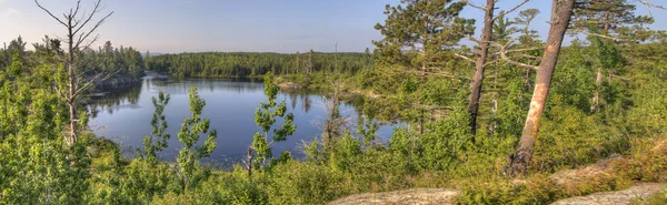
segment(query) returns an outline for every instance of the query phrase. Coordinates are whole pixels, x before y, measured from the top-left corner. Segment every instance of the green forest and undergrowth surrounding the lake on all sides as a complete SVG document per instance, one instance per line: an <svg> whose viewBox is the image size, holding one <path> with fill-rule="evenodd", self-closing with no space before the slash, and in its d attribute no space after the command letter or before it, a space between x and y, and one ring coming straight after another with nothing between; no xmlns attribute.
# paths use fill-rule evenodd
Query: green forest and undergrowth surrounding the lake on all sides
<svg viewBox="0 0 667 205"><path fill-rule="evenodd" d="M18 38L0 50L0 204L325 204L416 187L457 188L457 204L548 204L667 183L667 33L650 30L656 20L637 9L663 7L554 0L550 29L538 33L531 25L540 11L526 2L387 6L387 19L375 25L384 39L372 52L146 59L110 42L98 50L80 43L111 16L100 1L83 17L79 4L60 17L37 3L68 28L68 38L47 37L32 51ZM464 9L479 14L459 17ZM90 28L64 23L94 13L98 24ZM77 33L79 27L89 30ZM147 122L153 130L137 158L94 136L86 93L101 80L138 78L145 69L177 78L263 78L267 101L256 102L258 132L248 136L243 163L227 170L200 163L219 134L210 129L217 122L202 117L215 105L197 88L178 133L166 132L170 96L153 96ZM281 83L330 98L322 133L305 144L303 160L271 154L273 143L298 129L276 98ZM341 126L336 106L346 94L364 99L357 135ZM378 123L392 121L407 125L388 142L378 140ZM177 161L159 161L157 153L179 146L167 143L172 135L182 143ZM586 170L600 164L599 172ZM561 176L577 170L590 172ZM665 204L666 194L634 203Z"/></svg>

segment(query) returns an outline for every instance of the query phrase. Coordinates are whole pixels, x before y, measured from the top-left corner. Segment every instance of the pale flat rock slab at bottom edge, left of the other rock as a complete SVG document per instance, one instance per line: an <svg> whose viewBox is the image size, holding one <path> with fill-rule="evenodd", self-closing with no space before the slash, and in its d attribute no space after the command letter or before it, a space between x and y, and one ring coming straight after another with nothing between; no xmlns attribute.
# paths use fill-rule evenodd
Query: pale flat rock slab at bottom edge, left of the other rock
<svg viewBox="0 0 667 205"><path fill-rule="evenodd" d="M406 191L351 195L329 203L330 205L364 204L452 204L460 191L448 188L415 188Z"/></svg>

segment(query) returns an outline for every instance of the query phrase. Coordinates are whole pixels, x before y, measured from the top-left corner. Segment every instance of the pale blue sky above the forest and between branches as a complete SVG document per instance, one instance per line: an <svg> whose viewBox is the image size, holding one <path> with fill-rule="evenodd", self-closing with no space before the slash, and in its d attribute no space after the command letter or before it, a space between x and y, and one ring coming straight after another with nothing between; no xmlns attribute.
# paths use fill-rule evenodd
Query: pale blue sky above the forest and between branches
<svg viewBox="0 0 667 205"><path fill-rule="evenodd" d="M82 0L89 11L93 0ZM481 4L484 0L470 0ZM507 10L521 0L500 0ZM659 2L661 0L653 0ZM41 0L63 13L76 0ZM100 39L151 52L263 51L361 52L381 39L374 29L384 22L385 4L399 0L103 0L113 16L99 30ZM548 30L551 1L531 0L522 9L541 11L535 29ZM639 11L647 13L644 7ZM516 14L516 13L514 13ZM481 12L467 8L464 17L481 21ZM654 28L667 29L667 11L654 10ZM64 29L39 10L32 0L0 0L0 42L19 34L28 42L44 35L62 37ZM478 35L478 34L476 34Z"/></svg>

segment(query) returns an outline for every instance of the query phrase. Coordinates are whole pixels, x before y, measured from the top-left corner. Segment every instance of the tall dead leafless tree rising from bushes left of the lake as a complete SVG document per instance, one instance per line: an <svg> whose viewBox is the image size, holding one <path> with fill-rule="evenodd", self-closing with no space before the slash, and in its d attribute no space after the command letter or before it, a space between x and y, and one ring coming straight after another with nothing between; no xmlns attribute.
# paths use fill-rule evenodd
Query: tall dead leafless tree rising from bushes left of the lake
<svg viewBox="0 0 667 205"><path fill-rule="evenodd" d="M58 93L63 98L69 106L70 114L70 133L66 135L64 140L68 145L73 145L77 142L77 123L79 117L77 116L77 105L79 95L87 91L94 82L103 81L115 73L98 73L90 79L84 76L84 72L79 71L79 65L86 65L86 62L79 62L79 52L83 48L89 48L90 44L94 43L99 35L92 35L97 29L109 18L113 12L109 12L106 16L101 16L99 20L93 20L101 12L101 0L98 0L93 4L90 13L79 13L81 9L81 1L77 1L77 6L70 9L69 12L62 14L62 18L56 17L50 10L42 7L38 0L34 0L37 7L47 12L58 23L63 25L67 30L66 38L63 39L67 43L67 53L64 60L64 69L67 71L67 85L66 90L58 89ZM92 38L92 39L90 39Z"/></svg>

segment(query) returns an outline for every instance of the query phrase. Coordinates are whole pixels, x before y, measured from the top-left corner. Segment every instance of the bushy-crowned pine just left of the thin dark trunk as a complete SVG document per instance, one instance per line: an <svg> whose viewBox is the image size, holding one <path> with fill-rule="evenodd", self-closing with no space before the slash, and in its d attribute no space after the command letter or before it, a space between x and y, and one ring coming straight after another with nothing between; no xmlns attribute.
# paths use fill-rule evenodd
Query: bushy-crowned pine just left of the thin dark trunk
<svg viewBox="0 0 667 205"><path fill-rule="evenodd" d="M419 75L417 89L426 83L428 74L441 74L446 63L442 57L449 55L474 31L475 20L458 17L465 6L466 2L454 0L404 0L400 6L387 4L385 23L375 25L385 37L374 41L377 65ZM409 110L417 112L411 115L417 117L419 133L424 133L427 107L418 99L408 101Z"/></svg>

